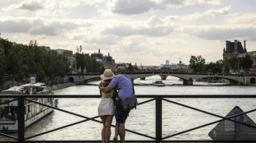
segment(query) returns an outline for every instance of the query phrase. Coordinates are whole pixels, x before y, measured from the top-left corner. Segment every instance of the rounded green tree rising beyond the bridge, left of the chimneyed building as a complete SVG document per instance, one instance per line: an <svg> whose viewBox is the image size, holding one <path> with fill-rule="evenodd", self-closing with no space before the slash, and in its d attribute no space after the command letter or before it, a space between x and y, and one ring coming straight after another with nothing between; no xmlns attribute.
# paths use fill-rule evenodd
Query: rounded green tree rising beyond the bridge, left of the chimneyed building
<svg viewBox="0 0 256 143"><path fill-rule="evenodd" d="M189 60L189 68L193 72L202 72L205 63L206 63L206 59L202 58L201 55L199 55L197 57L191 56L191 58Z"/></svg>

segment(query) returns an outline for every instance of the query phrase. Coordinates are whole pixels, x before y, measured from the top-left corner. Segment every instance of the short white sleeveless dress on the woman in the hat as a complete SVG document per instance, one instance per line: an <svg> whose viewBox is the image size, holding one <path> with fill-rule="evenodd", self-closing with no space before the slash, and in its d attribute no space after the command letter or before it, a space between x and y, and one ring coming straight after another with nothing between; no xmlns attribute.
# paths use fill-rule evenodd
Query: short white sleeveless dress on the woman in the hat
<svg viewBox="0 0 256 143"><path fill-rule="evenodd" d="M114 90L109 93L102 92L102 99L97 108L98 116L114 115Z"/></svg>

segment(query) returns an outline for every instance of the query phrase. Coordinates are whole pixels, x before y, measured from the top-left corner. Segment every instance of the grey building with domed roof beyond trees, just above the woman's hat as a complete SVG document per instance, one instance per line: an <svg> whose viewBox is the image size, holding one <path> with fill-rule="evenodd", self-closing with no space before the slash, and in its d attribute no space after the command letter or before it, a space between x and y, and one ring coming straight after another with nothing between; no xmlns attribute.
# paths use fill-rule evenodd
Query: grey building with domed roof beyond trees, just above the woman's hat
<svg viewBox="0 0 256 143"><path fill-rule="evenodd" d="M91 53L91 58L95 58L97 62L102 62L105 69L108 68L112 71L116 69L115 59L111 57L110 53L107 56L103 56L101 49L98 49L98 53Z"/></svg>

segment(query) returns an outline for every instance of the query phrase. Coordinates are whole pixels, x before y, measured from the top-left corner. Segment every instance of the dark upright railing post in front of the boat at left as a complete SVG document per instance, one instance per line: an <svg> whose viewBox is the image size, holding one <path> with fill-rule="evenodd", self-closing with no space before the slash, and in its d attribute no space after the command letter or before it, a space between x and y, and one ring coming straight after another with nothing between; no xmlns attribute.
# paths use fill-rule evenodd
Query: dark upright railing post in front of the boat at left
<svg viewBox="0 0 256 143"><path fill-rule="evenodd" d="M18 97L18 142L24 142L25 138L25 119L24 119L24 114L25 114L25 107L24 107L24 102L25 98L22 96Z"/></svg>

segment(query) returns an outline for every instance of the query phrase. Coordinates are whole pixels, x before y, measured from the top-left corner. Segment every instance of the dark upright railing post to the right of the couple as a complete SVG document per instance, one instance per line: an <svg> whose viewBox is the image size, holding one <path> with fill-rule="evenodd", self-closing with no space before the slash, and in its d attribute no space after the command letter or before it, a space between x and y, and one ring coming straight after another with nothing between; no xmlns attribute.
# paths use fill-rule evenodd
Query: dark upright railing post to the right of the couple
<svg viewBox="0 0 256 143"><path fill-rule="evenodd" d="M155 138L156 142L162 141L162 97L155 98Z"/></svg>

